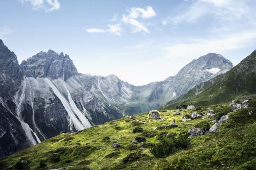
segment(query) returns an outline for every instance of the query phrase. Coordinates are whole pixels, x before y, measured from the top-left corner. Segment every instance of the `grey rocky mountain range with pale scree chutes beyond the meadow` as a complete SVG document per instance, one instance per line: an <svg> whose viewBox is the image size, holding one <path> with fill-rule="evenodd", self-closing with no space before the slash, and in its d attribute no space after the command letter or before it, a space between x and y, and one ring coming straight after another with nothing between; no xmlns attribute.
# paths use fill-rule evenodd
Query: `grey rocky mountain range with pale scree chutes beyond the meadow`
<svg viewBox="0 0 256 170"><path fill-rule="evenodd" d="M68 55L39 52L19 65L0 40L0 156L56 136L166 105L232 69L222 55L193 59L175 76L134 86L116 75L78 73Z"/></svg>

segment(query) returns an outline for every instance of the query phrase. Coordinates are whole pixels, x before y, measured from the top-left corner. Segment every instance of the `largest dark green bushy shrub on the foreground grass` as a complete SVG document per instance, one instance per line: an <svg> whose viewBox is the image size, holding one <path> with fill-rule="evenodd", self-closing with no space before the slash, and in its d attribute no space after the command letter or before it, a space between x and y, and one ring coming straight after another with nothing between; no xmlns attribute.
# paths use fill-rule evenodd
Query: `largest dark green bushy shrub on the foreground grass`
<svg viewBox="0 0 256 170"><path fill-rule="evenodd" d="M170 154L174 154L178 150L186 149L190 146L190 141L183 136L178 138L162 139L160 143L154 144L150 152L156 158L164 158Z"/></svg>

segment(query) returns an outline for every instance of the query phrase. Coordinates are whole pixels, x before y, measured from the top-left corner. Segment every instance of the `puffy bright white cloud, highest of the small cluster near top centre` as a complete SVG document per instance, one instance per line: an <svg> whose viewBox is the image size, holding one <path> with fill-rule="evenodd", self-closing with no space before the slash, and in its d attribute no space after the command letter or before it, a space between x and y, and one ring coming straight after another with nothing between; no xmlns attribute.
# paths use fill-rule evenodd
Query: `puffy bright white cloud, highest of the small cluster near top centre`
<svg viewBox="0 0 256 170"><path fill-rule="evenodd" d="M141 18L151 18L153 16L156 16L156 12L151 6L147 6L146 10L143 8L132 8L129 12L129 18L138 18L139 16Z"/></svg>

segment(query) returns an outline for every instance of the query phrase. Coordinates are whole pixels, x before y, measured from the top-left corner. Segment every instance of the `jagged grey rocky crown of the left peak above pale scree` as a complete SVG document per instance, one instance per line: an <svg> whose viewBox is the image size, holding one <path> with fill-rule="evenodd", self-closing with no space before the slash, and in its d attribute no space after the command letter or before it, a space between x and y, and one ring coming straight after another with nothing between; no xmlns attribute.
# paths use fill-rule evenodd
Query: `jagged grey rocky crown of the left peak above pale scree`
<svg viewBox="0 0 256 170"><path fill-rule="evenodd" d="M78 74L73 61L67 54L56 53L49 49L46 52L40 51L36 55L28 58L27 61L22 61L21 68L27 77L51 79L62 78L64 80Z"/></svg>

